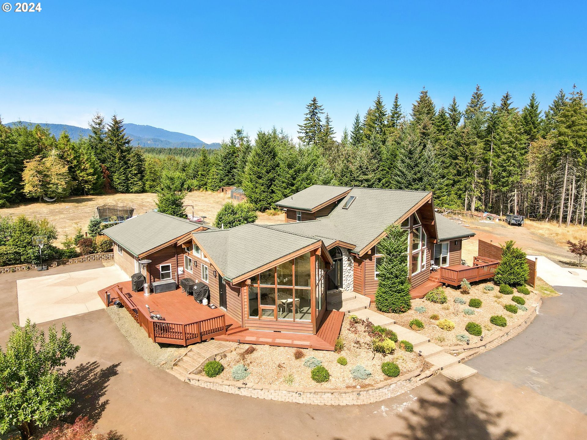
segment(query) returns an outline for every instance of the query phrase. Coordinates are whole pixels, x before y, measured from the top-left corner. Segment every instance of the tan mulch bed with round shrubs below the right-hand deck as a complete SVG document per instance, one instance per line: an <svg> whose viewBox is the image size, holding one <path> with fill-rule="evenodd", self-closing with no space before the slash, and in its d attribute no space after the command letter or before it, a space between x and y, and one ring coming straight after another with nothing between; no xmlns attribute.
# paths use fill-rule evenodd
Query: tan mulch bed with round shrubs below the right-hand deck
<svg viewBox="0 0 587 440"><path fill-rule="evenodd" d="M485 290L485 286L493 286L494 290ZM527 287L530 290L530 295L522 295L521 293L517 293L515 290L514 295L523 297L526 300L525 307L530 309L530 307L538 304L539 295L537 292L535 292L534 289L529 286ZM481 327L483 327L483 333L481 336L485 338L491 336L492 334L500 333L502 330L504 330L504 327L498 327L490 323L489 319L491 316L501 315L505 317L509 327L521 322L524 319L524 315L526 313L522 310L518 310L518 313L514 314L505 310L505 304L513 304L515 306L515 303L511 299L514 295L501 295L501 293L499 293L499 286L496 286L493 283L475 283L471 285L471 293L468 295L461 293L460 289L453 287L443 287L443 290L447 296L446 304L432 303L423 298L411 300L411 309L406 313L382 313L375 308L374 303L372 303L371 309L377 313L382 313L385 316L389 316L396 321L396 324L407 328L410 328L409 322L411 320L419 319L424 324L424 329L420 331L428 336L431 342L444 347L466 346L466 342L456 338L458 334L467 336L470 344L474 344L480 341L479 336L468 334L465 330L465 326L469 322L480 324ZM464 299L465 304L458 304L454 302L456 297ZM471 298L480 299L483 302L482 306L479 309L470 307L468 303ZM414 310L416 307L420 306L426 307L426 312L418 313L416 310ZM474 311L474 314L464 314L464 309L471 309ZM455 324L454 330L447 331L440 329L440 327L437 326L438 320L430 319L430 316L433 314L437 314L439 319L448 319L453 321Z"/></svg>

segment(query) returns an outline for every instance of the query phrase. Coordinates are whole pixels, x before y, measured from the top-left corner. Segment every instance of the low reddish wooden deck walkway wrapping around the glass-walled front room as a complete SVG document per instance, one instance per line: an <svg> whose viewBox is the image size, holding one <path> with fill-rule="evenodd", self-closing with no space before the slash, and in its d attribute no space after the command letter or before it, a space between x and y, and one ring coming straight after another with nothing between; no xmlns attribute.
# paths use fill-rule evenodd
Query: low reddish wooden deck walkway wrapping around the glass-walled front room
<svg viewBox="0 0 587 440"><path fill-rule="evenodd" d="M220 341L241 344L263 344L278 347L313 348L315 350L334 351L336 338L340 334L343 312L327 310L318 334L286 333L285 331L242 330L235 334L215 337Z"/></svg>

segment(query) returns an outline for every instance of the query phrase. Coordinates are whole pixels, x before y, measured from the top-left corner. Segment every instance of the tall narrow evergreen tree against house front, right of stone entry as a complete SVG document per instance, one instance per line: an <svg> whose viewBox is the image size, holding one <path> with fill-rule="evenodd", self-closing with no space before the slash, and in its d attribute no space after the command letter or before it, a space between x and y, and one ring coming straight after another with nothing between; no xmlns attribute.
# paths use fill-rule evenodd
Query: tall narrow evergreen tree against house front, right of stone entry
<svg viewBox="0 0 587 440"><path fill-rule="evenodd" d="M375 292L375 306L384 313L404 313L410 310L410 282L407 279L407 233L399 225L386 229L386 236L377 243L377 253L383 255L376 262L379 285Z"/></svg>

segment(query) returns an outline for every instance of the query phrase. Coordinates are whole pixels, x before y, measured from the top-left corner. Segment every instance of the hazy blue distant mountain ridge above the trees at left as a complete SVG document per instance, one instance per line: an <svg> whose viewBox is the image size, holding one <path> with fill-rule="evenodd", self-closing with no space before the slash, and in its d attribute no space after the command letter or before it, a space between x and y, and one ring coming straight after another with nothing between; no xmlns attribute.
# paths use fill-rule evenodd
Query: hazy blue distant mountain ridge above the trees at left
<svg viewBox="0 0 587 440"><path fill-rule="evenodd" d="M6 126L14 127L18 122L10 122ZM46 127L55 137L63 131L67 131L72 139L89 136L89 128L82 128L76 126L68 126L66 124L45 124L36 122L21 121L21 124L28 126ZM159 147L159 148L200 148L205 145L208 148L218 148L220 144L217 142L207 144L195 136L189 134L177 133L177 131L168 131L163 128L140 126L137 124L124 124L126 134L133 140L133 145L141 145L142 147Z"/></svg>

